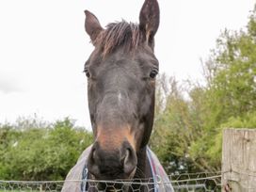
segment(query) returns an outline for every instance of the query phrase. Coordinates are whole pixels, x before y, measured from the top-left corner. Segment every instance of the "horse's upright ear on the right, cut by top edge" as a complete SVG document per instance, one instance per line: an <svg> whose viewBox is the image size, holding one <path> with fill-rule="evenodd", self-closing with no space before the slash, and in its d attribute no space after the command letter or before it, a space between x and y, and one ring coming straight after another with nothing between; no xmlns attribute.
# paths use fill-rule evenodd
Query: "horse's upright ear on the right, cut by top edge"
<svg viewBox="0 0 256 192"><path fill-rule="evenodd" d="M159 26L160 10L157 0L145 0L139 14L139 29L153 48L153 37Z"/></svg>

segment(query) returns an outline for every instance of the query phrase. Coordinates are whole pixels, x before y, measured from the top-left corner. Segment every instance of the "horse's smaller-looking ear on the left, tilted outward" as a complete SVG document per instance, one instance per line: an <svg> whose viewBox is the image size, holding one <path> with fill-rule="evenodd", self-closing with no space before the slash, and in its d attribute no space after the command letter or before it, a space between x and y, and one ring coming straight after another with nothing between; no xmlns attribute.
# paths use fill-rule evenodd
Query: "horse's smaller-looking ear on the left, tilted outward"
<svg viewBox="0 0 256 192"><path fill-rule="evenodd" d="M86 14L86 23L85 23L86 32L88 33L90 40L94 44L94 41L97 39L101 31L104 30L104 28L101 26L99 20L94 14L92 14L88 10L85 10L85 14Z"/></svg>

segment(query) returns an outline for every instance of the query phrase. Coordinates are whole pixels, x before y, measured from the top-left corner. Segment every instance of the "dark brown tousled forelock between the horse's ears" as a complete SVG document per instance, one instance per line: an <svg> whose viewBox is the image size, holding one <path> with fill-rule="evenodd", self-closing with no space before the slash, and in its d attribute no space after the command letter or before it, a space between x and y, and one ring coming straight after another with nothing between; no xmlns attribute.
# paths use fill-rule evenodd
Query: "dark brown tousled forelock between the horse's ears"
<svg viewBox="0 0 256 192"><path fill-rule="evenodd" d="M138 24L127 23L122 20L119 23L110 23L106 25L98 38L93 42L101 47L103 56L106 56L121 45L126 52L136 50L140 42L140 32Z"/></svg>

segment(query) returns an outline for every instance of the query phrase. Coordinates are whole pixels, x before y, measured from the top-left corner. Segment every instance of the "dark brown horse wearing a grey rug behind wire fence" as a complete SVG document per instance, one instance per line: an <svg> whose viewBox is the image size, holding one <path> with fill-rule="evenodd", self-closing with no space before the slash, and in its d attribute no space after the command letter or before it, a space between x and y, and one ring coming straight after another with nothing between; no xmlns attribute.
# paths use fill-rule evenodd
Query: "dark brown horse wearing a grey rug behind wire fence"
<svg viewBox="0 0 256 192"><path fill-rule="evenodd" d="M153 178L152 162L158 159L147 144L152 133L155 77L159 68L154 55L154 36L160 19L158 2L145 0L139 24L121 21L104 28L93 13L85 10L85 14L85 29L94 46L84 66L94 143L81 155L66 181L77 179L71 175L84 175L84 170L88 180ZM160 168L159 165L158 161L154 167ZM76 191L67 182L62 191ZM105 184L96 189L88 189L89 182L82 185L77 191L113 191ZM117 187L124 191L157 191L153 184L152 189L139 184ZM168 186L164 191L173 188Z"/></svg>

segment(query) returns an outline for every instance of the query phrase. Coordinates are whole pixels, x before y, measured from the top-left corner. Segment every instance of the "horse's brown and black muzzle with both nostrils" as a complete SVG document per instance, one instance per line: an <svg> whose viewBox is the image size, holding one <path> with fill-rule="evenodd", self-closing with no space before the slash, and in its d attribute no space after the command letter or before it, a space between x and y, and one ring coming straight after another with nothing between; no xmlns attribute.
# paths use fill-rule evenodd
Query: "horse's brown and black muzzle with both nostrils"
<svg viewBox="0 0 256 192"><path fill-rule="evenodd" d="M88 156L88 171L97 180L131 179L135 175L137 158L129 136L107 132L97 136Z"/></svg>

